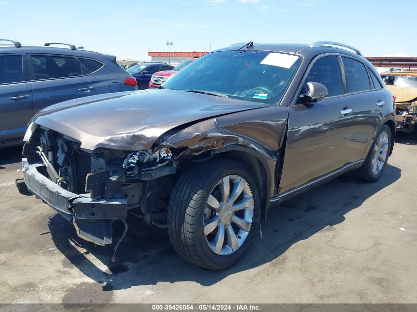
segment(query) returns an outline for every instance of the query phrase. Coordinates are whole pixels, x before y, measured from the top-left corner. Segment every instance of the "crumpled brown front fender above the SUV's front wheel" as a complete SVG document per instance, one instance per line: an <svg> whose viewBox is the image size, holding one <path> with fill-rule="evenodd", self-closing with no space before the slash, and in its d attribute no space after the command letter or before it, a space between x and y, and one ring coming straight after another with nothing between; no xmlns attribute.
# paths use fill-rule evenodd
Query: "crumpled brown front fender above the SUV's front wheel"
<svg viewBox="0 0 417 312"><path fill-rule="evenodd" d="M202 152L244 146L264 159L271 177L275 176L278 154L282 150L287 126L288 107L273 105L212 118L192 125L161 143L161 146L186 148L178 160ZM271 180L270 194L274 193Z"/></svg>

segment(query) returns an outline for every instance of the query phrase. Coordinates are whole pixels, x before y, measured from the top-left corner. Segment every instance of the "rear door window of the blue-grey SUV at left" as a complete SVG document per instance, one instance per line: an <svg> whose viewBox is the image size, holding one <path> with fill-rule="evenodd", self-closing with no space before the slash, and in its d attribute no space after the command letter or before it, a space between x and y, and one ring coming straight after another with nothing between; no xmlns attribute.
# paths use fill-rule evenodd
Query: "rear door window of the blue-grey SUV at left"
<svg viewBox="0 0 417 312"><path fill-rule="evenodd" d="M32 55L35 80L81 76L81 65L73 57Z"/></svg>

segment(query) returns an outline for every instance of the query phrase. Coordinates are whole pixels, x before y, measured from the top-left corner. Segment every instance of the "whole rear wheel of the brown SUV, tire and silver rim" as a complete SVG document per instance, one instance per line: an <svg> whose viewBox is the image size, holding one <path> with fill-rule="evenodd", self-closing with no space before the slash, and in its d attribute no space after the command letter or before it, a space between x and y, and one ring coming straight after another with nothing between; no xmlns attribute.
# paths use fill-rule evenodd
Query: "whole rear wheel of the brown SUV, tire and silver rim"
<svg viewBox="0 0 417 312"><path fill-rule="evenodd" d="M362 167L355 171L360 180L376 182L379 179L385 170L391 144L391 129L385 124L375 137Z"/></svg>

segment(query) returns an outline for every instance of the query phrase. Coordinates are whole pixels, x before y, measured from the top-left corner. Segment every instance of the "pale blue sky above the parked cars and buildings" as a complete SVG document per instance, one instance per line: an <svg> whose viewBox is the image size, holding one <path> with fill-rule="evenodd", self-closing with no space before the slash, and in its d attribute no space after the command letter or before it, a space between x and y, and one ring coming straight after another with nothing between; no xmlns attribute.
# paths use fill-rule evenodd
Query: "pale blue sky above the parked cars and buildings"
<svg viewBox="0 0 417 312"><path fill-rule="evenodd" d="M118 58L236 42L344 42L365 56L417 56L417 0L0 0L0 33L66 42ZM398 21L391 21L398 17Z"/></svg>

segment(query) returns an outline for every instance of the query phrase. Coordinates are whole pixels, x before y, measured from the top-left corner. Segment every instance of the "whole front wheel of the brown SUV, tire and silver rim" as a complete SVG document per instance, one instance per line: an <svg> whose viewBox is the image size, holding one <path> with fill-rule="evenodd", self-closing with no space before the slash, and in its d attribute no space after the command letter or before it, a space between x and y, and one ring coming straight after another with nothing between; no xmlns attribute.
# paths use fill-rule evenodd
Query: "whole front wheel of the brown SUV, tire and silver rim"
<svg viewBox="0 0 417 312"><path fill-rule="evenodd" d="M184 173L168 207L168 234L187 261L209 270L234 265L259 231L261 200L242 163L213 160Z"/></svg>

